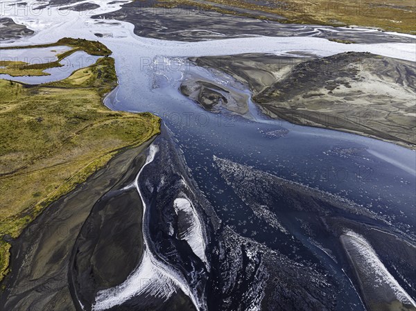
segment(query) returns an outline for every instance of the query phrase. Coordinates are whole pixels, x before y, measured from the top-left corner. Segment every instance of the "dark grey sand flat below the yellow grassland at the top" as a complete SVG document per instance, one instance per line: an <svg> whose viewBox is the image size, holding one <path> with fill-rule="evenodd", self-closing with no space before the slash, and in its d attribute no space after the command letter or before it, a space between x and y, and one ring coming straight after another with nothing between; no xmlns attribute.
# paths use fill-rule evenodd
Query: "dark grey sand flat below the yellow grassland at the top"
<svg viewBox="0 0 416 311"><path fill-rule="evenodd" d="M262 15L262 14L261 14ZM200 8L157 8L154 2L133 1L121 10L96 15L92 18L118 19L135 25L135 34L166 40L195 42L209 39L246 37L247 35L315 36L343 39L356 43L414 42L413 38L386 35L381 32L354 33L353 29L318 25L280 24L249 17L224 15Z"/></svg>

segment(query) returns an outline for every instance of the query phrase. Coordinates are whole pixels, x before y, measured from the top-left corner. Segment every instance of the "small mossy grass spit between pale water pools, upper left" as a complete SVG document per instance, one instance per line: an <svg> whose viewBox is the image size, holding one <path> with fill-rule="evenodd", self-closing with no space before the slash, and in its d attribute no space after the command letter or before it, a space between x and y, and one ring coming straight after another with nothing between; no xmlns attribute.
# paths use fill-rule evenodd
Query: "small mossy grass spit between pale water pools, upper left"
<svg viewBox="0 0 416 311"><path fill-rule="evenodd" d="M71 50L65 51L56 55L58 60L54 62L45 62L42 64L28 64L26 62L11 62L11 61L0 61L0 73L5 73L11 75L12 77L17 77L21 75L49 75L49 73L44 73L45 69L60 67L63 66L60 64L60 61L65 57L68 57L76 51L85 51L89 55L98 55L98 56L108 56L111 55L110 49L108 49L104 44L101 44L98 41L88 41L86 39L73 39L73 38L62 38L58 42L52 44L38 44L32 46L17 46L17 47L5 47L0 48L0 51L7 49L21 49L21 48L47 48L52 46L70 46Z"/></svg>

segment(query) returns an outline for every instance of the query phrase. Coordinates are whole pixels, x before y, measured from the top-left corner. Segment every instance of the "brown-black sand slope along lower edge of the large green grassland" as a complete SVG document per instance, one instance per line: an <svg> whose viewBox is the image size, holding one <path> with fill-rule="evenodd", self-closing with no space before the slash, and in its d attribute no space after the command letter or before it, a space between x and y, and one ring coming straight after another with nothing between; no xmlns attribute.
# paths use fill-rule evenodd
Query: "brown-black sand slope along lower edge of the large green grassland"
<svg viewBox="0 0 416 311"><path fill-rule="evenodd" d="M42 215L12 242L12 272L2 283L6 290L1 292L1 310L76 310L70 291L73 291L73 287L90 287L86 280L78 280L69 273L71 254L78 233L81 232L78 245L82 246L85 228L94 229L93 223L98 221L94 211L98 209L103 209L106 215L103 218L104 235L97 236L96 231L89 232L92 238L90 243L95 242L97 245L97 249L90 250L93 251L95 259L96 284L103 287L113 285L130 274L139 258L139 238L135 239L133 245L125 245L119 242L120 236L114 232L108 235L108 231L113 229L118 234L123 234L126 238L124 243L132 242L129 236L137 234L134 224L139 226L141 222L141 201L135 195L116 196L108 206L103 206L103 201L108 191L123 188L134 180L146 159L144 150L149 144L150 141L114 157L105 168L98 170L84 184L46 208ZM101 199L102 197L104 198ZM135 206L131 213L121 213L122 209L116 211L116 208L127 208L124 203L131 202L132 199L135 199ZM90 213L92 216L89 217ZM83 226L87 218L89 221ZM110 228L107 227L108 219ZM124 227L124 223L130 223L132 226ZM104 245L107 246L105 249ZM137 254L133 253L135 251ZM99 258L103 252L107 257ZM78 254L78 271L83 268L83 260L88 260L88 256L88 253ZM107 260L111 260L116 271L114 267L109 269ZM105 281L102 281L102 278L105 278ZM78 281L82 284L79 285ZM86 290L85 295L88 293Z"/></svg>

